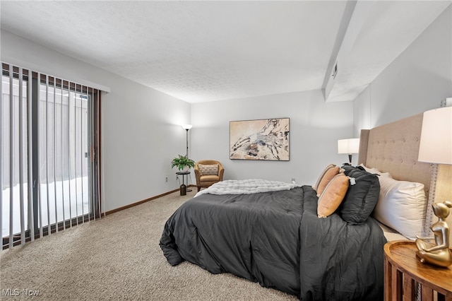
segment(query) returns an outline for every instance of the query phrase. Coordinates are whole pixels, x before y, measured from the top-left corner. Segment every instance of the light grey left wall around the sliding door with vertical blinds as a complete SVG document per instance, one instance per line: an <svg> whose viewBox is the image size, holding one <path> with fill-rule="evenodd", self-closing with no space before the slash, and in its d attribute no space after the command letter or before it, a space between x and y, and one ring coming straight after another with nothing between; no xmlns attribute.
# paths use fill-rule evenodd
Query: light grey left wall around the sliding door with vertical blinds
<svg viewBox="0 0 452 301"><path fill-rule="evenodd" d="M185 153L180 124L190 122L189 103L4 30L1 61L111 90L102 95L105 211L179 187L171 160Z"/></svg>

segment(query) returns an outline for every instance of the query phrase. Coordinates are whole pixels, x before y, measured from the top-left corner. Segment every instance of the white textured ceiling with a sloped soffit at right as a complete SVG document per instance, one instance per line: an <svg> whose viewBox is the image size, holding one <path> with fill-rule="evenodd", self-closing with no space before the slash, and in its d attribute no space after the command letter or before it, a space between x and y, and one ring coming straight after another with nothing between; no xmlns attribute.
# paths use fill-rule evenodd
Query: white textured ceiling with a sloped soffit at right
<svg viewBox="0 0 452 301"><path fill-rule="evenodd" d="M206 102L326 85L328 101L353 100L451 1L358 4L1 1L0 5L3 30L181 100ZM331 81L335 61L338 76Z"/></svg>

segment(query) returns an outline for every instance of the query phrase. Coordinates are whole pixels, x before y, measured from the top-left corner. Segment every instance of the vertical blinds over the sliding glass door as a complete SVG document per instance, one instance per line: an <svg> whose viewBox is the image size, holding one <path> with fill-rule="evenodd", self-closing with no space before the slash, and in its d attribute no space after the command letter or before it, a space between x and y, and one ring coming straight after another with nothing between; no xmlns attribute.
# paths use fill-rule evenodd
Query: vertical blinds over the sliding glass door
<svg viewBox="0 0 452 301"><path fill-rule="evenodd" d="M100 218L101 91L2 63L2 247Z"/></svg>

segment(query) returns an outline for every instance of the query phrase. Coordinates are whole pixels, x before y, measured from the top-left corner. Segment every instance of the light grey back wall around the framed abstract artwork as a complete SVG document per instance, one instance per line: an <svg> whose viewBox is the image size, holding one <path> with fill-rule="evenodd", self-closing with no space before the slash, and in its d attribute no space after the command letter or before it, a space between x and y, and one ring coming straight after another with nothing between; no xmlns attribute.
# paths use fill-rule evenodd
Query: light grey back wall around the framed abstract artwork
<svg viewBox="0 0 452 301"><path fill-rule="evenodd" d="M321 90L191 105L194 160L219 160L225 179L263 178L315 184L329 163L347 162L337 141L352 138L353 102L328 102ZM290 161L230 160L230 121L290 118ZM355 162L355 160L354 160Z"/></svg>

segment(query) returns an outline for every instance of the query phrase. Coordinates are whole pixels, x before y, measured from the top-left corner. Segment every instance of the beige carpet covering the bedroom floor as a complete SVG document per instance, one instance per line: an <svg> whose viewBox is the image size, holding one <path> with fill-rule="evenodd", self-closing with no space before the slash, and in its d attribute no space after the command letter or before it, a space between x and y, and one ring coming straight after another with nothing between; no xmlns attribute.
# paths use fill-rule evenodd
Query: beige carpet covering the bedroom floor
<svg viewBox="0 0 452 301"><path fill-rule="evenodd" d="M297 300L229 273L167 263L158 245L163 225L195 192L2 251L1 300ZM37 297L27 296L35 291Z"/></svg>

